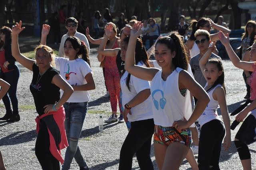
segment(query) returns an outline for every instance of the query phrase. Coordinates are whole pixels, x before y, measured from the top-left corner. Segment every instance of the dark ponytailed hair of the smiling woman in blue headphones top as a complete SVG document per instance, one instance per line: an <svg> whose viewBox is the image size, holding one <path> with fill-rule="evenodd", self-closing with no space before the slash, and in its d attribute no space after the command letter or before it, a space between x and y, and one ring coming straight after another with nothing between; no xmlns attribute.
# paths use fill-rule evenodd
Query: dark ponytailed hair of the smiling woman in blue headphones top
<svg viewBox="0 0 256 170"><path fill-rule="evenodd" d="M178 32L171 32L170 36L159 38L159 40L156 42L156 46L157 44L165 44L167 48L171 50L171 52L176 52L176 56L172 59L172 63L174 64L175 68L180 67L183 70L188 70L187 52L184 47L182 36L180 36Z"/></svg>

